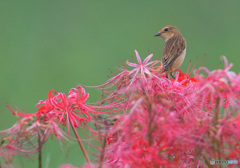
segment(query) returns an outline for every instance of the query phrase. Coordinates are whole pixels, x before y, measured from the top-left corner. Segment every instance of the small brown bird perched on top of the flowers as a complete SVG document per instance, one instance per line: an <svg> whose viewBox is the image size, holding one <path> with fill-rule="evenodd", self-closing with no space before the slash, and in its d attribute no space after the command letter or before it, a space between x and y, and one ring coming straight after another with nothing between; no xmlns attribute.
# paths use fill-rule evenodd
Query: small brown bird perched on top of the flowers
<svg viewBox="0 0 240 168"><path fill-rule="evenodd" d="M160 72L174 77L172 72L182 65L186 55L186 41L178 29L171 25L164 26L155 36L165 40Z"/></svg>

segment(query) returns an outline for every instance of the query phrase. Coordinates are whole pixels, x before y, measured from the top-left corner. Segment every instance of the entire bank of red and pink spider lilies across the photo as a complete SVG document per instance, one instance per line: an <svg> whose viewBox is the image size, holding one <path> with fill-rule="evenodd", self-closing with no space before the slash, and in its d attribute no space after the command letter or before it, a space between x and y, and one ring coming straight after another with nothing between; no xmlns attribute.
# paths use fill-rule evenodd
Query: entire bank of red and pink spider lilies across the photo
<svg viewBox="0 0 240 168"><path fill-rule="evenodd" d="M155 70L158 62L150 61L152 54L142 61L135 53L138 63L126 61L131 70L124 67L97 86L105 93L98 106L87 105L89 95L77 86L68 95L51 90L48 99L37 104L36 113L8 107L24 117L20 124L0 132L4 139L11 139L8 147L18 146L23 152L16 143L19 136L12 133L31 130L24 125L28 119L38 127L32 126L27 135L36 137L39 131L34 130L41 128L42 142L48 137L44 135L52 132L57 137L64 135L60 123L67 126L68 135L71 126L88 161L84 168L211 167L211 159L240 160L240 74L230 71L232 65L226 58L222 70L200 68L190 77L178 69L175 78L168 79ZM90 121L96 131L87 125ZM81 144L76 131L79 126L90 129L91 138L101 145L95 163Z"/></svg>

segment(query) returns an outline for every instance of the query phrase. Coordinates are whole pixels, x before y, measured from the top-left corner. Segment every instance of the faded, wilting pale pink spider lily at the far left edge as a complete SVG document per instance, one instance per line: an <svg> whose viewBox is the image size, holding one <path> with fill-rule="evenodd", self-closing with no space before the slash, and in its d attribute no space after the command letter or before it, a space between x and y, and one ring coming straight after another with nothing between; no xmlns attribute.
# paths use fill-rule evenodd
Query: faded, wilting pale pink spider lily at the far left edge
<svg viewBox="0 0 240 168"><path fill-rule="evenodd" d="M49 135L55 134L60 140L68 140L67 135L57 123L49 120L45 123L35 121L32 117L20 119L7 130L0 131L0 156L9 161L15 154L29 156L38 152L39 143L44 144ZM40 138L38 140L38 138Z"/></svg>

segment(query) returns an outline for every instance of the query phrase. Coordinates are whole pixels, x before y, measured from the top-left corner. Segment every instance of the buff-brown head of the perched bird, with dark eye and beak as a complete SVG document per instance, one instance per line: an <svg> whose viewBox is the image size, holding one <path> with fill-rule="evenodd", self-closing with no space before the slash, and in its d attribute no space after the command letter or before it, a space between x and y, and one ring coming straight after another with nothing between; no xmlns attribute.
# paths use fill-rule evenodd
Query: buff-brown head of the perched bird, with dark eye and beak
<svg viewBox="0 0 240 168"><path fill-rule="evenodd" d="M179 31L177 30L176 27L171 26L171 25L167 25L164 26L163 28L161 28L159 30L159 32L157 34L155 34L154 36L160 36L162 37L165 41L167 41L168 39L170 39L171 37L173 37L174 35L179 34Z"/></svg>

